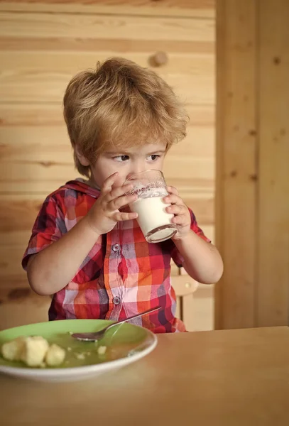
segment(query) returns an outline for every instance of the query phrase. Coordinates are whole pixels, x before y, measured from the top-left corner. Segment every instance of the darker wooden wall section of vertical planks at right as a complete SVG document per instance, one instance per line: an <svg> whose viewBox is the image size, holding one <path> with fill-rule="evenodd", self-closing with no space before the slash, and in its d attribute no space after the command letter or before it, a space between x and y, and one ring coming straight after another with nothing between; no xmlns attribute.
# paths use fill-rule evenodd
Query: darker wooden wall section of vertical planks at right
<svg viewBox="0 0 289 426"><path fill-rule="evenodd" d="M217 0L217 328L289 324L288 23L288 0Z"/></svg>

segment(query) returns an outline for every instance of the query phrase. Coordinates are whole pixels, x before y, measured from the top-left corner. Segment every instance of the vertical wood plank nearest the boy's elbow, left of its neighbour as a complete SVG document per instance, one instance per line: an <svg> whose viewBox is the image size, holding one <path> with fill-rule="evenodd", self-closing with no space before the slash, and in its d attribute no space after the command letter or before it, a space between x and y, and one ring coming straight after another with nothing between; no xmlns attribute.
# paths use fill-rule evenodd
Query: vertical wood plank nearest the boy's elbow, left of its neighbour
<svg viewBox="0 0 289 426"><path fill-rule="evenodd" d="M253 327L256 283L256 2L217 2L216 328Z"/></svg>

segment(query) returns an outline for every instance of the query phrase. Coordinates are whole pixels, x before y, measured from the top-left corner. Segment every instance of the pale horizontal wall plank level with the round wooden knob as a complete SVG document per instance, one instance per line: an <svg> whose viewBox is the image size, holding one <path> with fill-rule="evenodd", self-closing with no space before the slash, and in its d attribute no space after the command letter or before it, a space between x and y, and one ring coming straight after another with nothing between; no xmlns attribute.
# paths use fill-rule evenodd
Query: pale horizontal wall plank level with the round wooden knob
<svg viewBox="0 0 289 426"><path fill-rule="evenodd" d="M103 53L17 53L0 52L0 101L49 103L61 102L65 88L72 75L80 70L93 67L99 59L107 58ZM136 55L138 56L138 55ZM136 58L146 66L147 55ZM179 94L183 102L191 104L214 104L214 62L212 55L191 55L186 60L187 69L180 68L182 58L170 58L168 66L158 74ZM175 64L175 65L173 65ZM190 65L189 65L190 64ZM175 72L173 72L173 66ZM184 65L182 65L184 66ZM170 72L170 69L172 72ZM193 89L188 89L192 87Z"/></svg>

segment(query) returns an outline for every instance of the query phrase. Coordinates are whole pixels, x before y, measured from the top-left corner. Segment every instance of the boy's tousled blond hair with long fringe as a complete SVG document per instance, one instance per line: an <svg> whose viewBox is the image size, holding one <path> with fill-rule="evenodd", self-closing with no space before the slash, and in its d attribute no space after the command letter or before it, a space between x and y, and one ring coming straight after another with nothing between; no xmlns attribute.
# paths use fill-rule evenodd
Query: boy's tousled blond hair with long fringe
<svg viewBox="0 0 289 426"><path fill-rule="evenodd" d="M72 78L64 96L64 117L77 170L89 166L108 146L129 147L163 141L167 149L186 135L187 114L156 72L124 58L111 58L96 70Z"/></svg>

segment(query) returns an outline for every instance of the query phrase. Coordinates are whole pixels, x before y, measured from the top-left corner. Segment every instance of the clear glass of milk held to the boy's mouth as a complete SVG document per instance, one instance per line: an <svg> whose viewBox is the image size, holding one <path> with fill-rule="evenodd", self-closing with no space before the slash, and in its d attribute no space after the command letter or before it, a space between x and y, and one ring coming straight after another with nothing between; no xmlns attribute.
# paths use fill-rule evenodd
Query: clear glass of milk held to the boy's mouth
<svg viewBox="0 0 289 426"><path fill-rule="evenodd" d="M168 195L165 178L160 170L146 170L132 175L125 182L133 184L130 195L138 195L138 199L129 207L138 214L138 225L148 243L160 243L172 238L177 226L171 223L173 214L166 212L163 197Z"/></svg>

